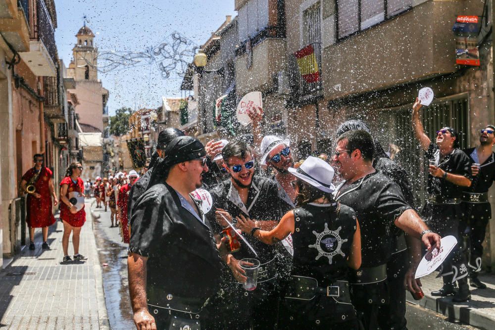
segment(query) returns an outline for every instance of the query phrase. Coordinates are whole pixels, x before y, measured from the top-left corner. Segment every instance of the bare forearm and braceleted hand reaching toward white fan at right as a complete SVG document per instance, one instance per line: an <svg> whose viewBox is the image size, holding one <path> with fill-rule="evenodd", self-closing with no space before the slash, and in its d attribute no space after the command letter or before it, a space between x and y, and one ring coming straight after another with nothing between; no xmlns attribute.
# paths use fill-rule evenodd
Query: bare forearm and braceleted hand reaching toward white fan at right
<svg viewBox="0 0 495 330"><path fill-rule="evenodd" d="M440 236L435 233L426 233L421 237L421 233L428 230L428 226L419 217L416 211L408 209L396 219L394 223L398 228L403 230L407 235L420 238L426 248L430 250L433 246L440 247Z"/></svg>

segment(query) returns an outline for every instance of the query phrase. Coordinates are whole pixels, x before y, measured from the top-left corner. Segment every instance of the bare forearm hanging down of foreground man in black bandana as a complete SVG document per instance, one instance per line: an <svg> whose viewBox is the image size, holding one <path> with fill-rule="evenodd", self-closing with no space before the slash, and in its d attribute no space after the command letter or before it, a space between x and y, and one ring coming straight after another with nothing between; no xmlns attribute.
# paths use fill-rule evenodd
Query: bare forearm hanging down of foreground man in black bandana
<svg viewBox="0 0 495 330"><path fill-rule="evenodd" d="M134 323L138 330L154 329L154 318L149 314L146 296L146 262L147 257L130 253L127 257L127 272L129 274L129 295L131 297Z"/></svg>

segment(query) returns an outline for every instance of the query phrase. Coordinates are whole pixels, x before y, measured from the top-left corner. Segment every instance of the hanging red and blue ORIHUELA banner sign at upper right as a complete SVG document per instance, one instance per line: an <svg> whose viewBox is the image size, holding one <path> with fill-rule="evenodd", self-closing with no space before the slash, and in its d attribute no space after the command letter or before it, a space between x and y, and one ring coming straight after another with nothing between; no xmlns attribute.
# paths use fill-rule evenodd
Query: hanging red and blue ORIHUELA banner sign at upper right
<svg viewBox="0 0 495 330"><path fill-rule="evenodd" d="M455 63L480 66L480 53L478 51L479 17L457 16L452 32L455 36Z"/></svg>

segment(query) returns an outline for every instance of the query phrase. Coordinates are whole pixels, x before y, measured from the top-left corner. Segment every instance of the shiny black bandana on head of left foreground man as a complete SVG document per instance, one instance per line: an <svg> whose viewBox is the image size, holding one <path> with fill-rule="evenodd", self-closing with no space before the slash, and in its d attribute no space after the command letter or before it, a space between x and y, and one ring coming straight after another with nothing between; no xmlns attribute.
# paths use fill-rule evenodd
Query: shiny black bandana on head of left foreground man
<svg viewBox="0 0 495 330"><path fill-rule="evenodd" d="M168 143L164 152L166 166L206 156L203 144L198 139L189 136L175 138Z"/></svg>

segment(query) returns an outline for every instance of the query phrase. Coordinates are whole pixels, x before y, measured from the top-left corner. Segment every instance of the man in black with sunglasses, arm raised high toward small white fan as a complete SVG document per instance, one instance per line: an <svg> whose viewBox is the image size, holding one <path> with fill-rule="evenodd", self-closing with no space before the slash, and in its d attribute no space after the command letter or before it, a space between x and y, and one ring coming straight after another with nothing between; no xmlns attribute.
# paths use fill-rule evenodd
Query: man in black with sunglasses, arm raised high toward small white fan
<svg viewBox="0 0 495 330"><path fill-rule="evenodd" d="M437 132L435 143L425 134L420 120L421 103L416 98L412 108L412 127L425 157L430 162L428 175L428 200L422 215L442 236L455 236L457 244L440 268L439 276L444 285L433 296L454 295L453 302L463 302L471 298L467 283L467 263L460 249L459 220L463 216L461 206L462 190L471 186L469 157L458 148L459 136L451 127L441 128ZM454 283L459 290L456 292Z"/></svg>

